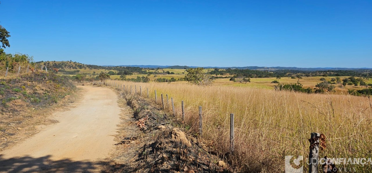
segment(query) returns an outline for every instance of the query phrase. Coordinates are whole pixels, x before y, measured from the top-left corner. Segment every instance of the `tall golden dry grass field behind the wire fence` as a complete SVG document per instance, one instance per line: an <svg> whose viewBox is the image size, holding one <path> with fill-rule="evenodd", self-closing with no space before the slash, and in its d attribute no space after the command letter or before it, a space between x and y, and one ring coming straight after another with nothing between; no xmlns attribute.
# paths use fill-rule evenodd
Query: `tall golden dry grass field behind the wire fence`
<svg viewBox="0 0 372 173"><path fill-rule="evenodd" d="M229 152L230 113L235 114L235 152L232 164L244 172L283 172L286 155L308 156L311 132L327 137L320 157L372 157L372 106L367 97L332 94L303 94L231 86L200 87L185 83L132 83L110 80L129 90L142 87L142 96L154 100L157 90L174 99L176 117L189 133L198 131L198 107L203 109L205 142L221 153ZM167 103L166 103L167 105ZM170 105L170 103L169 103ZM171 106L167 109L171 112ZM366 167L342 165L342 167ZM305 166L306 169L306 166ZM371 166L367 167L371 170Z"/></svg>

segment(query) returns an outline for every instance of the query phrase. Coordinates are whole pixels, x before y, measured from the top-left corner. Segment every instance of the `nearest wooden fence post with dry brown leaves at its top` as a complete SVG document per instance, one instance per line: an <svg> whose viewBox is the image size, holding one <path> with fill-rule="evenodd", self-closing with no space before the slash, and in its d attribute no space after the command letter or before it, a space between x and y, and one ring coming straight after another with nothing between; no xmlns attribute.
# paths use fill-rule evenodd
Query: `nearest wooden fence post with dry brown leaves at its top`
<svg viewBox="0 0 372 173"><path fill-rule="evenodd" d="M319 137L319 133L312 132L309 139L309 173L318 173Z"/></svg>

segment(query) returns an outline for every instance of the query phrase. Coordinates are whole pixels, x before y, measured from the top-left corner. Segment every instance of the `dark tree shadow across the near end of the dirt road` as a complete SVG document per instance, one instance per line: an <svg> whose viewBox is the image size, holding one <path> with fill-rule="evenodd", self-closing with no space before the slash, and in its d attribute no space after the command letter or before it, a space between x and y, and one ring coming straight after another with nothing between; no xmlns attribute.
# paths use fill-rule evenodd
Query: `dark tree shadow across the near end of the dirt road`
<svg viewBox="0 0 372 173"><path fill-rule="evenodd" d="M0 172L97 172L107 162L73 161L70 159L51 160L44 157L14 157L4 159L0 155Z"/></svg>

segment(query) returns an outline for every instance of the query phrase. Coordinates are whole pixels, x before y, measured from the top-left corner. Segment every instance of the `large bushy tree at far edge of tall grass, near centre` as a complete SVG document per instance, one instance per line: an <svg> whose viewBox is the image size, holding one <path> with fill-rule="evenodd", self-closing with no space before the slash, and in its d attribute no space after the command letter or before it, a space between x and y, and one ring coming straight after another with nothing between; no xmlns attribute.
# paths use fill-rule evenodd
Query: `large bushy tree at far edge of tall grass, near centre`
<svg viewBox="0 0 372 173"><path fill-rule="evenodd" d="M214 81L214 77L211 74L204 73L203 70L202 67L187 69L187 74L183 79L200 86L209 85Z"/></svg>

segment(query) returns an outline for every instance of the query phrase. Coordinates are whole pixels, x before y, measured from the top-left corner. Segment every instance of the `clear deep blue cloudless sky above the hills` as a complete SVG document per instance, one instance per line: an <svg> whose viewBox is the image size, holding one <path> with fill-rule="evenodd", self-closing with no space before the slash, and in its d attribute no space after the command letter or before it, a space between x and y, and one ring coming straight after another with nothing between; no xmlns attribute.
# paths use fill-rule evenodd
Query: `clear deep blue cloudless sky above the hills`
<svg viewBox="0 0 372 173"><path fill-rule="evenodd" d="M372 67L372 1L0 0L7 53L97 65Z"/></svg>

